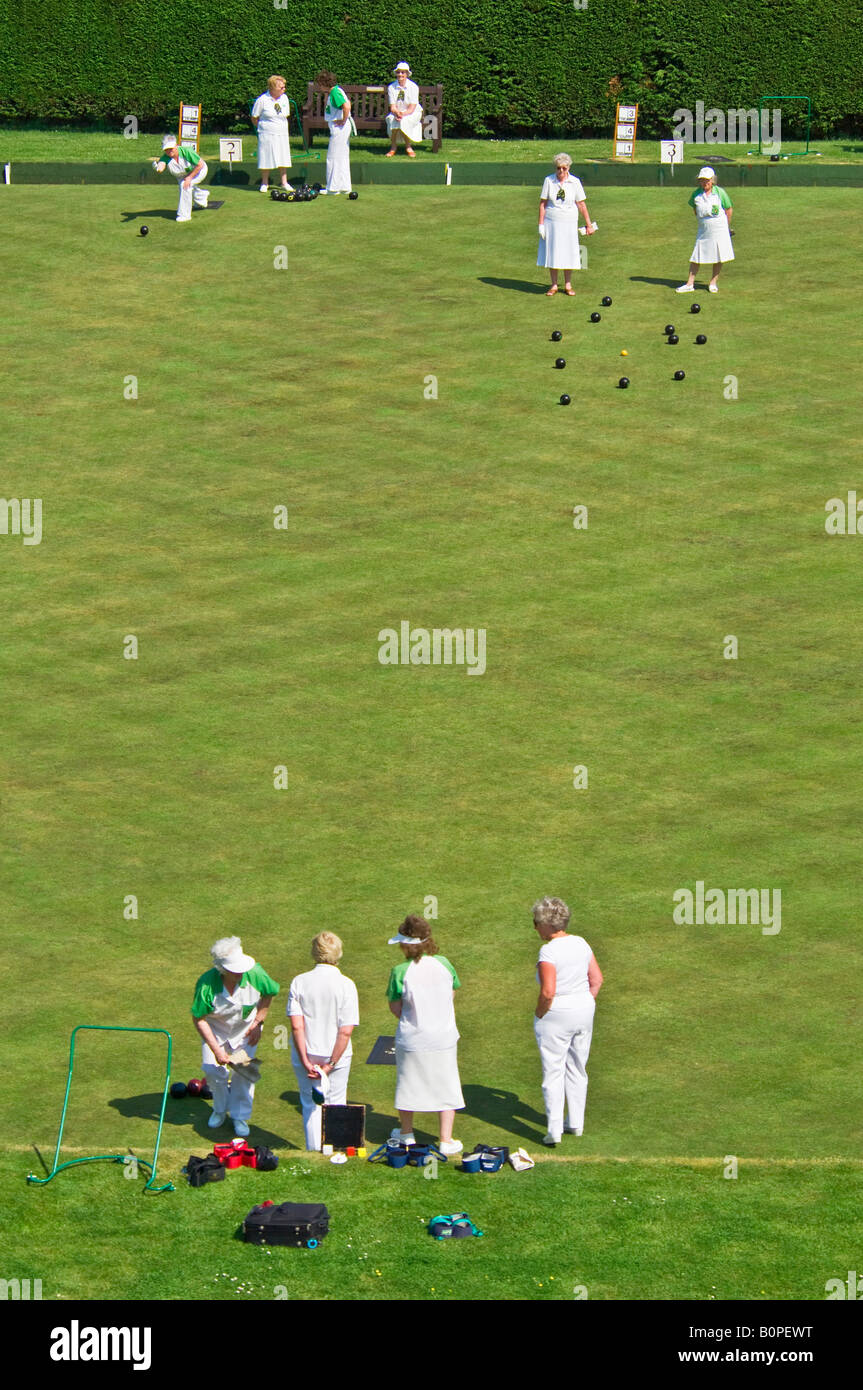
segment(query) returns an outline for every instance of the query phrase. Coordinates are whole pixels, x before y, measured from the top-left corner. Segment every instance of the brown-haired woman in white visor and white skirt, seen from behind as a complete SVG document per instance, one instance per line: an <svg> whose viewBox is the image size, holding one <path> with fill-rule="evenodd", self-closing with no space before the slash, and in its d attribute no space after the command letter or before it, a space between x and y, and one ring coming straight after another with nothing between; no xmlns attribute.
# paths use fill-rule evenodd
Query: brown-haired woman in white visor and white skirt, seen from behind
<svg viewBox="0 0 863 1390"><path fill-rule="evenodd" d="M402 949L404 960L393 966L386 998L399 1020L396 1029L396 1109L400 1127L391 1140L414 1144L414 1111L439 1116L441 1152L460 1154L453 1138L456 1111L464 1109L459 1080L459 1030L453 990L459 976L442 956L428 922L406 917L391 947Z"/></svg>

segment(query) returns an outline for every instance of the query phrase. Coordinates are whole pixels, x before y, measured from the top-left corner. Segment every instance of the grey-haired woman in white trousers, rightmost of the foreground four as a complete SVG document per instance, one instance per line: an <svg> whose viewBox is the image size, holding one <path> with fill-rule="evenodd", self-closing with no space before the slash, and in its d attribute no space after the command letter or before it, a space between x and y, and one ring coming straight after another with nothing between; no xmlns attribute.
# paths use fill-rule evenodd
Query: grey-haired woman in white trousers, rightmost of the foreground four
<svg viewBox="0 0 863 1390"><path fill-rule="evenodd" d="M560 898L534 903L534 927L542 938L536 979L539 998L534 1036L542 1061L542 1098L549 1126L543 1144L581 1134L588 1097L588 1054L593 1034L602 970L584 937L567 933L570 909ZM568 1125L564 1125L564 1104Z"/></svg>

